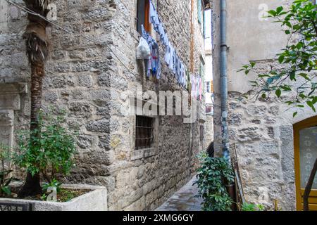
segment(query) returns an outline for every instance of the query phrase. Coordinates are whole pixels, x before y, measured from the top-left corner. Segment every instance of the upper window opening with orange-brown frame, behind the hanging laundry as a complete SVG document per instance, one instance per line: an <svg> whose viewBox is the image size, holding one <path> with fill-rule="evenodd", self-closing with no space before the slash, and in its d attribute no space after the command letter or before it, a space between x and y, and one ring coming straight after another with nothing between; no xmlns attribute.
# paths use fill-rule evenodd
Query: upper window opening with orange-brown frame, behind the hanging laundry
<svg viewBox="0 0 317 225"><path fill-rule="evenodd" d="M149 0L137 0L137 32L139 34L142 34L142 25L147 32L151 32L149 8Z"/></svg>

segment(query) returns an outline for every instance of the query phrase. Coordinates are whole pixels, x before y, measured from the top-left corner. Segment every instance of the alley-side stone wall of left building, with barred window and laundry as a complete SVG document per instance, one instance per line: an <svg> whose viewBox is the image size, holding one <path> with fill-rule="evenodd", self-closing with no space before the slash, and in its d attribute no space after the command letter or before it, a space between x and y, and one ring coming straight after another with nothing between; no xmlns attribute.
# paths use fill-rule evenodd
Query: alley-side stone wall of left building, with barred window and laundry
<svg viewBox="0 0 317 225"><path fill-rule="evenodd" d="M156 5L156 2L154 4ZM178 50L178 54L187 68L189 68L190 52L190 7L190 1L159 1L159 16L166 26L171 43ZM151 79L145 79L143 65L139 62L135 63L135 51L131 51L131 49L136 49L139 39L134 20L135 4L133 1L121 1L118 8L123 10L118 11L114 17L113 30L116 31L113 32L114 45L118 46L116 50L123 57L123 61L127 65L131 65L130 69L137 72L132 75L126 68L118 64L118 70L114 76L122 77L128 85L125 86L125 89L113 90L113 95L120 96L127 89L135 90L137 84L142 85L144 90L155 91L156 94L165 90L182 90L165 63L161 63L161 79L156 84ZM128 20L127 15L130 15ZM194 15L197 15L197 12L194 12ZM180 17L185 19L180 20ZM152 30L152 35L156 36L154 30ZM195 31L194 38L195 41L201 43L200 46L203 46L204 39L201 34ZM159 45L160 58L163 59L165 49L162 44ZM199 59L201 54L204 57L204 51L200 46L199 49L194 49L195 60ZM195 72L199 72L199 63L195 61L194 65ZM121 103L123 101L125 98ZM182 117L156 118L159 120L158 151L149 158L131 161L130 153L134 148L132 127L134 127L135 118L131 119L122 115L113 115L113 118L116 118L122 127L128 127L128 135L125 135L127 131L123 129L118 129L112 134L118 140L115 150L116 160L113 164L118 168L114 172L118 191L115 191L109 199L110 209L154 210L193 176L194 169L197 168L195 158L203 145L199 141L201 123L197 121L194 124L183 124Z"/></svg>

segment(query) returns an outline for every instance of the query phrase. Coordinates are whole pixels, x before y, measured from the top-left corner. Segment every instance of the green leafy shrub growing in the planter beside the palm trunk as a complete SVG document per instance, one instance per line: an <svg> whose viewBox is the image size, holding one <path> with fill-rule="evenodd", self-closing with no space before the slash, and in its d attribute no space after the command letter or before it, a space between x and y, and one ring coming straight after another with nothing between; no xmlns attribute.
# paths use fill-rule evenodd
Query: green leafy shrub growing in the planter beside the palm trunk
<svg viewBox="0 0 317 225"><path fill-rule="evenodd" d="M28 173L41 174L49 184L56 184L58 175L69 174L76 153L74 132L63 127L65 113L41 113L39 131L20 132L16 165Z"/></svg>

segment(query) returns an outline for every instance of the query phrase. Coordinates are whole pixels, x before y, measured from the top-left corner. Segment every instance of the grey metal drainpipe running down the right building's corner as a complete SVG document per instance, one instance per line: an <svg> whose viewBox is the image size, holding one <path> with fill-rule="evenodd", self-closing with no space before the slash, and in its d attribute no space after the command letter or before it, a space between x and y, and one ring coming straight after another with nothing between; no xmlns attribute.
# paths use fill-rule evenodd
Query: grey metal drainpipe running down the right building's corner
<svg viewBox="0 0 317 225"><path fill-rule="evenodd" d="M223 157L231 165L228 134L227 6L220 0L220 96Z"/></svg>

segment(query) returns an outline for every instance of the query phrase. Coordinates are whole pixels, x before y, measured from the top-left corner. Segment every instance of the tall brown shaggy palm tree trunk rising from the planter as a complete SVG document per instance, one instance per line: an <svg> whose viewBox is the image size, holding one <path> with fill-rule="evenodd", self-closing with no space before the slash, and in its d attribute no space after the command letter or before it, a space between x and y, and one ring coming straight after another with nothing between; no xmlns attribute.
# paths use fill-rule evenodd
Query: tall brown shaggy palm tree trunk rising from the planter
<svg viewBox="0 0 317 225"><path fill-rule="evenodd" d="M49 0L23 0L25 6L35 13L46 17ZM31 124L30 138L31 147L39 144L36 139L40 138L39 113L42 108L42 83L44 77L44 65L48 56L48 39L46 35L46 20L37 15L29 13L27 15L29 23L23 37L26 39L26 53L31 66ZM36 165L35 165L36 166ZM35 196L42 193L39 174L27 173L25 184L19 193L21 198Z"/></svg>

